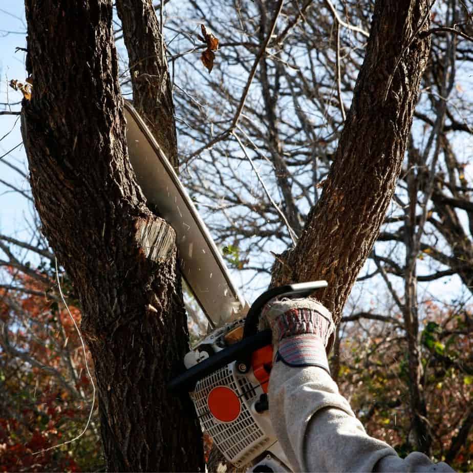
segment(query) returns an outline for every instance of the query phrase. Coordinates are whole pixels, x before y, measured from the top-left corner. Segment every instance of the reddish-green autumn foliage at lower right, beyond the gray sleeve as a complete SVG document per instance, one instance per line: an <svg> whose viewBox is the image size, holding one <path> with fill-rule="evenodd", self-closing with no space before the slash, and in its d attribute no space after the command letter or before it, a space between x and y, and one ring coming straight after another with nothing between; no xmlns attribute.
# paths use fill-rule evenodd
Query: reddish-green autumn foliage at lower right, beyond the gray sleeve
<svg viewBox="0 0 473 473"><path fill-rule="evenodd" d="M457 471L473 464L473 431L460 448L453 440L469 420L473 402L471 311L441 310L423 304L420 352L422 388L433 436L431 454ZM398 318L401 322L401 317ZM407 342L402 323L365 320L345 328L338 384L367 432L392 445L404 457L415 449L411 435Z"/></svg>

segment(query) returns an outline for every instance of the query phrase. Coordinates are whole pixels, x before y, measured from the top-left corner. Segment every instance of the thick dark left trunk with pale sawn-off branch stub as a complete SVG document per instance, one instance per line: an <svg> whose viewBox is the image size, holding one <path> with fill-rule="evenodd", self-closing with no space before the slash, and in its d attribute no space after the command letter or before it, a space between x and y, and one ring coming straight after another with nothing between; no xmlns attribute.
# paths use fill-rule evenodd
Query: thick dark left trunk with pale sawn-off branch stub
<svg viewBox="0 0 473 473"><path fill-rule="evenodd" d="M128 160L112 1L25 3L31 187L81 302L107 467L202 469L193 407L165 388L187 349L186 316L174 231L147 208Z"/></svg>

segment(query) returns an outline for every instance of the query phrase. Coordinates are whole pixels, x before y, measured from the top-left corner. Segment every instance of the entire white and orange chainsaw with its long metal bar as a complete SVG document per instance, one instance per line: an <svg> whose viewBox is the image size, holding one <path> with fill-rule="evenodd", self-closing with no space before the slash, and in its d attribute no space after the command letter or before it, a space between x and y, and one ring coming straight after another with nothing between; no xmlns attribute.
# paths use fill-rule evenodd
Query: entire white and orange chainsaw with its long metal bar
<svg viewBox="0 0 473 473"><path fill-rule="evenodd" d="M168 388L187 392L203 432L226 460L247 471L292 471L269 417L271 331L258 331L263 307L275 298L305 297L326 281L269 289L251 307L233 284L205 223L173 167L133 106L125 102L128 153L138 184L174 228L183 278L210 331L184 357Z"/></svg>

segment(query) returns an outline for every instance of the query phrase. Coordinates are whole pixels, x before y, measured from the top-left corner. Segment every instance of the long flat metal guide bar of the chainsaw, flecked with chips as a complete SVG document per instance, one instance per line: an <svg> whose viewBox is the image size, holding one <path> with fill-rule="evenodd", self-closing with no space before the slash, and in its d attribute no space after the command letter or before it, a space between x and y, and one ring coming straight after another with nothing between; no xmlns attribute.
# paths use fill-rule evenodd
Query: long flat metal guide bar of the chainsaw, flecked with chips
<svg viewBox="0 0 473 473"><path fill-rule="evenodd" d="M147 201L176 232L181 274L211 327L244 317L248 303L232 283L219 249L174 168L129 102L124 111L128 153L137 182Z"/></svg>

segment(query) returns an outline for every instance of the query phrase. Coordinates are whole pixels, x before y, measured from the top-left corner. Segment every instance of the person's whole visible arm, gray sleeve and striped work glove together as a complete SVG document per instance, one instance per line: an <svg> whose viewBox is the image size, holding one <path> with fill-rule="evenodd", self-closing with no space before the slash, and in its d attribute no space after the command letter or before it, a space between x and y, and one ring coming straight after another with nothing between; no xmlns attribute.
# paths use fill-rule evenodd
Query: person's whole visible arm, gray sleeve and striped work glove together
<svg viewBox="0 0 473 473"><path fill-rule="evenodd" d="M283 301L265 317L277 348L271 423L295 471L454 471L417 452L401 459L365 432L329 374L325 347L334 327L327 309L313 299Z"/></svg>

